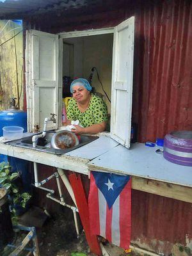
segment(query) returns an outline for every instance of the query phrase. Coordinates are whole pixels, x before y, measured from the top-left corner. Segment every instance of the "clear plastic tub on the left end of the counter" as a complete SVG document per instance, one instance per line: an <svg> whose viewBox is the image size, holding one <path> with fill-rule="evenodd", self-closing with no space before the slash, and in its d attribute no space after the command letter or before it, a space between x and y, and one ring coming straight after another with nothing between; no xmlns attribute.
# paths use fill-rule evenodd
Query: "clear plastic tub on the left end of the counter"
<svg viewBox="0 0 192 256"><path fill-rule="evenodd" d="M4 126L3 137L6 140L17 140L22 138L23 131L24 129L20 126Z"/></svg>

